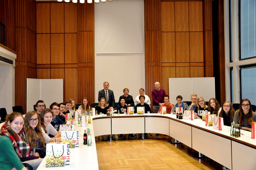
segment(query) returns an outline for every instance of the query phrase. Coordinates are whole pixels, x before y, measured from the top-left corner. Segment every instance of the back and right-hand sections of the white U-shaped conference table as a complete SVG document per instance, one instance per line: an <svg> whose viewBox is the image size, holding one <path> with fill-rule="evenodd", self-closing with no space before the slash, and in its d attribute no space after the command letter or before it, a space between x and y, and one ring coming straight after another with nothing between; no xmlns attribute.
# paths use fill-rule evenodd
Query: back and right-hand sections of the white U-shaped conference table
<svg viewBox="0 0 256 170"><path fill-rule="evenodd" d="M126 133L166 134L229 169L256 169L256 140L241 130L239 138L230 136L228 126L219 131L205 126L201 119L179 120L173 114L93 116L94 135Z"/></svg>

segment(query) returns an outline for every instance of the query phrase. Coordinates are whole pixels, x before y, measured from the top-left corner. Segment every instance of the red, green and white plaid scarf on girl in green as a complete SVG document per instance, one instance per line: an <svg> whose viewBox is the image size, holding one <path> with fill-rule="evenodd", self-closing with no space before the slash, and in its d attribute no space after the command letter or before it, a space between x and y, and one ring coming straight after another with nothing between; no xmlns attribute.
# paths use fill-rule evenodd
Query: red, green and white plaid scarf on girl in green
<svg viewBox="0 0 256 170"><path fill-rule="evenodd" d="M3 124L0 130L0 135L8 136L12 141L14 150L19 158L26 158L29 156L31 152L31 148L29 144L25 142L24 137L20 132L17 134L15 133L12 128L7 124Z"/></svg>

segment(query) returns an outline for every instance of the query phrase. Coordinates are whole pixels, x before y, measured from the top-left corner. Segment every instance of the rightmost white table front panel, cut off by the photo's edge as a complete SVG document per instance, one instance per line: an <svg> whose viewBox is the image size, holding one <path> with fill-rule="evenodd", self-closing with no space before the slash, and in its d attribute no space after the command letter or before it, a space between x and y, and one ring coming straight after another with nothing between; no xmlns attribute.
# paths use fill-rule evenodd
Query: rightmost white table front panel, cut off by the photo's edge
<svg viewBox="0 0 256 170"><path fill-rule="evenodd" d="M255 140L255 139L254 139ZM256 149L232 141L232 167L233 170L255 170Z"/></svg>

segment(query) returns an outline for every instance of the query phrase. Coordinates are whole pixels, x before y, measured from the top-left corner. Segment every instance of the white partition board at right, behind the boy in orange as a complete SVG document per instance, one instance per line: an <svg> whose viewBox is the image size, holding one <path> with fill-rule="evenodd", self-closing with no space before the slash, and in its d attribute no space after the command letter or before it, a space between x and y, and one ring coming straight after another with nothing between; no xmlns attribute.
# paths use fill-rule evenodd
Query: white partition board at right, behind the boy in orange
<svg viewBox="0 0 256 170"><path fill-rule="evenodd" d="M170 102L176 104L176 97L181 95L182 101L190 101L191 94L202 96L205 101L215 98L215 78L196 77L196 78L169 78Z"/></svg>

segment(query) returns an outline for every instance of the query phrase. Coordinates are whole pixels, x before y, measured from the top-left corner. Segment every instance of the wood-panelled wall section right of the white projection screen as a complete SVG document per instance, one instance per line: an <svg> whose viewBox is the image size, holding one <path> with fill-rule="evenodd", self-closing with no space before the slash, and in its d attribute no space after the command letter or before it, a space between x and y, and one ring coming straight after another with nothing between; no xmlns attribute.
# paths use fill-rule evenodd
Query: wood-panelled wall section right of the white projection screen
<svg viewBox="0 0 256 170"><path fill-rule="evenodd" d="M210 2L144 1L145 82L150 96L156 81L169 94L168 78L213 76ZM206 8L210 12L204 12Z"/></svg>

